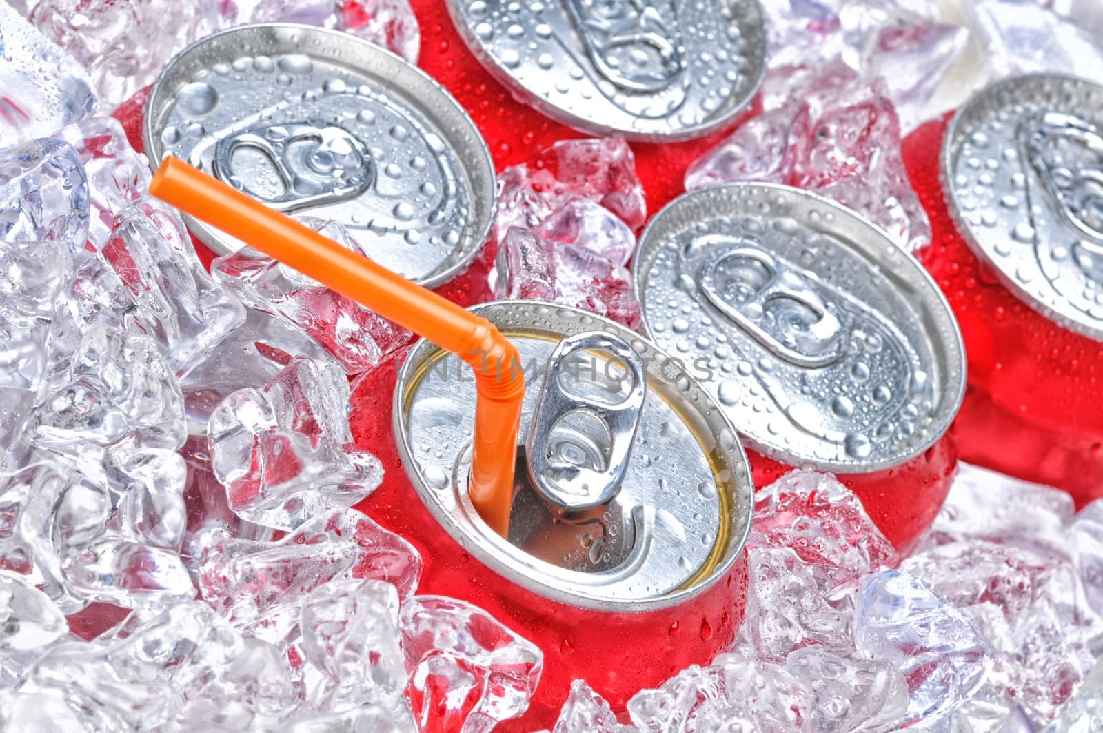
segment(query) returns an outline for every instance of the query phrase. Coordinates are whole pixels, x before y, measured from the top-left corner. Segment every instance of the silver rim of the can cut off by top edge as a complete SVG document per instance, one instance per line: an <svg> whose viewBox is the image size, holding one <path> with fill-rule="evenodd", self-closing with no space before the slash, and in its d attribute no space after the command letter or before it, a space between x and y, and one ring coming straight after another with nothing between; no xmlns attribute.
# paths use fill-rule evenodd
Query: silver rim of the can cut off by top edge
<svg viewBox="0 0 1103 733"><path fill-rule="evenodd" d="M751 65L754 68L754 73L749 76L750 85L746 87L741 98L732 104L731 109L715 119L690 125L681 128L676 132L668 134L638 132L621 127L602 125L601 123L576 115L564 107L552 104L510 74L510 72L483 46L482 42L475 36L471 26L463 20L463 18L460 17L460 1L461 0L446 0L445 4L448 7L448 15L451 18L452 25L456 26L460 38L463 39L464 45L467 45L468 50L479 61L479 63L482 64L483 68L485 68L495 81L502 84L502 86L508 89L515 98L521 99L524 104L528 105L542 115L550 117L552 119L567 125L568 127L571 127L580 132L602 137L622 137L625 140L632 140L634 142L681 142L685 140L693 140L704 135L708 135L709 132L715 132L733 121L754 99L762 86L762 81L765 78L767 62L769 59L769 44L767 42L767 20L765 13L762 10L762 4L759 0L736 0L735 2L728 2L728 6L731 8L732 12L745 13L747 20L749 21L748 25L753 31L752 33L745 34L743 38L750 40L749 47L751 53L749 54L749 57ZM735 97L736 95L737 91L733 89L731 95L729 95L729 98Z"/></svg>

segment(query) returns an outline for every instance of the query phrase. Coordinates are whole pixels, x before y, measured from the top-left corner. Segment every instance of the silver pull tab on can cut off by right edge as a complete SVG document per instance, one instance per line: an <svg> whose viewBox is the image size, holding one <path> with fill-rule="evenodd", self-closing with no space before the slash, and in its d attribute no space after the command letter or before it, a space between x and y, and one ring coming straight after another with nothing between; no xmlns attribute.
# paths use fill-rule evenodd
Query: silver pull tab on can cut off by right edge
<svg viewBox="0 0 1103 733"><path fill-rule="evenodd" d="M1020 145L1050 200L1079 232L1103 243L1103 137L1079 117L1045 113L1026 118ZM1099 254L1099 252L1096 253Z"/></svg>

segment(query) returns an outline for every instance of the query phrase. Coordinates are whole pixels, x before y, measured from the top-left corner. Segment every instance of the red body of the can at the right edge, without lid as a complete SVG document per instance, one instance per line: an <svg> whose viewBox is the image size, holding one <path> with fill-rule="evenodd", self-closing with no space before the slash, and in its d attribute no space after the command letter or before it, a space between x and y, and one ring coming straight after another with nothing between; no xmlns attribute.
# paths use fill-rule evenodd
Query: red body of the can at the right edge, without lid
<svg viewBox="0 0 1103 733"><path fill-rule="evenodd" d="M949 117L917 129L903 155L931 220L931 245L918 255L965 339L968 385L952 435L963 460L1086 503L1103 497L1103 343L1031 309L970 249L941 187L947 125Z"/></svg>

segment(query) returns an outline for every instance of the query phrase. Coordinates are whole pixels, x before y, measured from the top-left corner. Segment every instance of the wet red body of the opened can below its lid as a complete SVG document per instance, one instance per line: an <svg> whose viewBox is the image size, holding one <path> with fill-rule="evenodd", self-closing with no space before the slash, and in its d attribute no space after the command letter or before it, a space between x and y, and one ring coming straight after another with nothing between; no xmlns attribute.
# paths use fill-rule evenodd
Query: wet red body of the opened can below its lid
<svg viewBox="0 0 1103 733"><path fill-rule="evenodd" d="M575 679L586 679L614 711L640 689L689 665L708 665L735 641L747 596L747 556L707 589L670 608L609 613L572 606L524 588L472 557L430 514L406 478L392 434L397 360L362 379L352 396L353 436L384 466L383 484L357 506L401 534L425 563L418 593L469 601L544 652L544 671L523 718L495 730L552 727Z"/></svg>

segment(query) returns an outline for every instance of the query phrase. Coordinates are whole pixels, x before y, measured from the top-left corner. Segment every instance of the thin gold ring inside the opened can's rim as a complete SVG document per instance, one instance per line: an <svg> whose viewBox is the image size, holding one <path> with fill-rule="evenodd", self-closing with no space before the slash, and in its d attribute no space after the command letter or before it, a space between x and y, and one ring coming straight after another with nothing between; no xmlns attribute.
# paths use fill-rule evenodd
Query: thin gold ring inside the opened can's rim
<svg viewBox="0 0 1103 733"><path fill-rule="evenodd" d="M502 334L507 338L520 337L525 339L539 339L540 341L552 341L552 342L558 342L564 338L561 334L548 333L547 331L508 329L502 327L499 327L499 329L502 331ZM601 355L596 351L588 350L588 352L592 353L595 357ZM414 394L417 391L417 387L421 384L421 381L425 379L426 374L429 373L429 371L433 368L433 365L437 364L437 362L439 362L442 359L447 359L449 355L451 354L448 351L437 348L433 349L433 351L430 352L426 359L421 360L421 362L415 366L415 371L409 382L405 384L403 387L405 390L401 396L404 415L409 414L410 406L414 403ZM526 385L526 389L527 386L528 385ZM713 476L717 481L717 486L720 487L721 489L726 489L717 491L717 499L720 504L720 512L719 512L720 520L719 520L719 525L716 528L716 541L713 543L713 549L709 552L708 556L705 559L705 562L702 564L702 566L697 569L697 571L693 575L686 578L684 583L682 583L673 591L671 591L671 593L676 593L678 591L692 588L696 586L698 583L702 583L703 581L708 578L716 570L716 567L725 560L731 534L731 487L729 486L730 481L725 481L724 479L720 478L720 476L725 471L725 468L722 467L720 461L719 449L706 448L706 445L710 443L716 444L718 442L703 439L703 434L704 434L703 421L697 419L693 414L687 413L685 408L678 404L679 401L672 400L668 396L668 391L670 391L668 385L658 382L655 379L655 376L650 373L647 374L647 389L652 391L654 394L657 394L660 399L662 399L662 401L665 402L671 407L671 410L673 410L674 413L682 419L682 422L686 425L686 427L689 428L689 433L694 436L694 439L697 442L698 447L705 455L705 458L708 460L709 468L711 469Z"/></svg>

